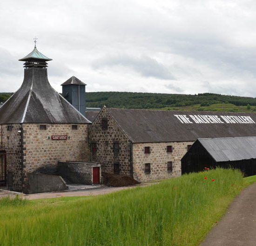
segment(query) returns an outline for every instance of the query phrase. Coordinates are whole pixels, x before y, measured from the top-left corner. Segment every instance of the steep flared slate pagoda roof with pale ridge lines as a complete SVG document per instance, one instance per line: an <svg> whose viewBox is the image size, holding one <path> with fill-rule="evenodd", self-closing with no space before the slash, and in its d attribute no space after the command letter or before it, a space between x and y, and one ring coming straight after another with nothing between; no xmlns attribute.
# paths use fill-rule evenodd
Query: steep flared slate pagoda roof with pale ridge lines
<svg viewBox="0 0 256 246"><path fill-rule="evenodd" d="M31 57L31 53L26 57ZM11 123L91 122L52 88L46 68L32 66L24 69L20 89L0 108L0 124Z"/></svg>

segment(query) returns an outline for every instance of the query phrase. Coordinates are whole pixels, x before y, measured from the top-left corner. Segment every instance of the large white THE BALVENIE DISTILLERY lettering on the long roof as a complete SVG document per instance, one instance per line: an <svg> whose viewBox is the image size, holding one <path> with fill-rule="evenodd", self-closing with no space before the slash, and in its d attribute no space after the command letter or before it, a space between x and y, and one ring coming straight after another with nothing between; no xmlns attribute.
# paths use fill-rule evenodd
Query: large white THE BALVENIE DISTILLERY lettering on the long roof
<svg viewBox="0 0 256 246"><path fill-rule="evenodd" d="M230 115L174 115L181 123L217 123L217 124L255 124L249 116L230 116Z"/></svg>

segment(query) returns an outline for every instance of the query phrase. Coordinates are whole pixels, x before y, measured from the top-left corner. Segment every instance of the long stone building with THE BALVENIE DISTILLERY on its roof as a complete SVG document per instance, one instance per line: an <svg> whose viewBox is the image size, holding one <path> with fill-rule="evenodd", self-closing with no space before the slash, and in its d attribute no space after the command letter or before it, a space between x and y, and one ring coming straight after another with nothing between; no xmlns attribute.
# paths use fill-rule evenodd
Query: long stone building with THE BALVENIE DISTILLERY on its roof
<svg viewBox="0 0 256 246"><path fill-rule="evenodd" d="M180 176L197 138L256 136L256 114L103 107L89 129L92 161L102 172L137 181Z"/></svg>

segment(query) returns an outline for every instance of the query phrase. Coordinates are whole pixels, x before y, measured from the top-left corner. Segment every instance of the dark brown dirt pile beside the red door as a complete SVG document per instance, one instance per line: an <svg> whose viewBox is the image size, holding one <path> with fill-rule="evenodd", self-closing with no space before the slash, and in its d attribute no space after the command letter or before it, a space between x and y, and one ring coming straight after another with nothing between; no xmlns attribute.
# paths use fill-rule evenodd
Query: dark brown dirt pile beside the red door
<svg viewBox="0 0 256 246"><path fill-rule="evenodd" d="M140 182L125 175L101 173L101 176L102 176L102 182L106 186L120 187L120 186L140 184Z"/></svg>

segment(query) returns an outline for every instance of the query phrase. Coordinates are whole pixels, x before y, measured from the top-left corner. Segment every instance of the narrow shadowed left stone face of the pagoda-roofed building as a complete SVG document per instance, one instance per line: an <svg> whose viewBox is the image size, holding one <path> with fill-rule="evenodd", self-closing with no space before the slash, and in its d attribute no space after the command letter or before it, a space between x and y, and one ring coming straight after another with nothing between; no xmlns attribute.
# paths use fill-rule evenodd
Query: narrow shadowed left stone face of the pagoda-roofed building
<svg viewBox="0 0 256 246"><path fill-rule="evenodd" d="M11 126L11 130L7 130ZM22 162L21 162L21 137L20 124L3 124L3 150L7 152L7 175L12 176L13 184L9 188L14 191L21 191L22 186ZM0 130L1 139L1 130Z"/></svg>

